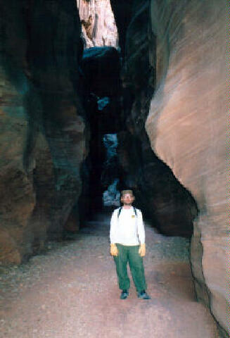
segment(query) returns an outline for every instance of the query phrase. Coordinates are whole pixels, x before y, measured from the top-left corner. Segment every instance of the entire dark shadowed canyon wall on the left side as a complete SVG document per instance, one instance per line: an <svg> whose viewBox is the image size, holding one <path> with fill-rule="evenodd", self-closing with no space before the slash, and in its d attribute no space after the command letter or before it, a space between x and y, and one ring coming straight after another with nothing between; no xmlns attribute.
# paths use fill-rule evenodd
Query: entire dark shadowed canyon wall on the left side
<svg viewBox="0 0 230 338"><path fill-rule="evenodd" d="M71 222L87 155L78 94L82 51L74 1L1 1L4 264L43 249L47 236L60 237Z"/></svg>

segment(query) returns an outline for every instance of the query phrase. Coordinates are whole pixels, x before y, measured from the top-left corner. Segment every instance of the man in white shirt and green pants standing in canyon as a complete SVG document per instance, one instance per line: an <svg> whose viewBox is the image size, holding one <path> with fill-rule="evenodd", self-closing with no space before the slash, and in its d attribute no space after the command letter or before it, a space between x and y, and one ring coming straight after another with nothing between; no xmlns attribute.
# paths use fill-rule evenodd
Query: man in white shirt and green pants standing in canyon
<svg viewBox="0 0 230 338"><path fill-rule="evenodd" d="M110 221L110 254L114 258L118 284L122 290L120 299L127 299L129 296L128 262L138 298L150 299L146 293L143 269L146 244L142 213L132 206L134 201L132 190L123 190L121 201L123 206L115 209Z"/></svg>

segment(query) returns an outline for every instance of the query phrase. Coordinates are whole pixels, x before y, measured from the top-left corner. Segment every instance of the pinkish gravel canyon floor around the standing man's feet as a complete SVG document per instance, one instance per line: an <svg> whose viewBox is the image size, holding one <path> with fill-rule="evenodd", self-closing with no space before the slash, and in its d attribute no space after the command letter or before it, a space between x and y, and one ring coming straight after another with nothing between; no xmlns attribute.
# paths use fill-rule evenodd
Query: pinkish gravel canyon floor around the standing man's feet
<svg viewBox="0 0 230 338"><path fill-rule="evenodd" d="M133 282L120 299L109 246L109 216L98 215L74 239L47 243L27 263L0 265L0 337L218 337L195 299L188 239L146 225L150 300L137 298Z"/></svg>

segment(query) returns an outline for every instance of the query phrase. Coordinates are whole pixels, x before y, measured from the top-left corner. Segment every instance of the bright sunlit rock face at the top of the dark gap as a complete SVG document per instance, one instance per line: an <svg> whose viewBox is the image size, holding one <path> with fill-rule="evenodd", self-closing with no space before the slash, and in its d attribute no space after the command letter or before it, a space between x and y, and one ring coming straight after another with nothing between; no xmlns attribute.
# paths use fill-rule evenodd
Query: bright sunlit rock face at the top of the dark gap
<svg viewBox="0 0 230 338"><path fill-rule="evenodd" d="M110 0L77 0L84 48L118 46Z"/></svg>

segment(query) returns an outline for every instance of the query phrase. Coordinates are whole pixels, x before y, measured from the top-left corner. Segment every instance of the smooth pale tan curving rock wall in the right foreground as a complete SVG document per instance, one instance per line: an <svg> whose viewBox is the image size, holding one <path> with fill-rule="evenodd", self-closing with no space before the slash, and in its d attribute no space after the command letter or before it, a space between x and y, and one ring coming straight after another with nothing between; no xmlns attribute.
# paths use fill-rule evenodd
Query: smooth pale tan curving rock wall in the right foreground
<svg viewBox="0 0 230 338"><path fill-rule="evenodd" d="M151 1L157 91L146 130L196 199L191 263L198 299L226 334L224 1Z"/></svg>

